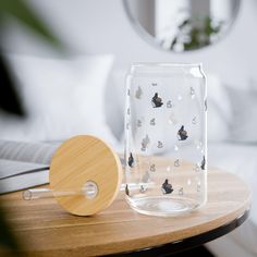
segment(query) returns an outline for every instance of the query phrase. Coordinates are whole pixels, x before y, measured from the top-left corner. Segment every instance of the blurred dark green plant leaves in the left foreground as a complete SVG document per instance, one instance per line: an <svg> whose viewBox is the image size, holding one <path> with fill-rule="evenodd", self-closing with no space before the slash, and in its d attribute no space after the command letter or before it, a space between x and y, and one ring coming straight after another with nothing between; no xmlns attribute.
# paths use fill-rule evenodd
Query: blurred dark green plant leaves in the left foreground
<svg viewBox="0 0 257 257"><path fill-rule="evenodd" d="M0 28L4 27L4 24L10 17L26 26L56 49L64 52L64 46L48 29L44 22L38 19L35 11L26 1L0 0ZM26 113L15 88L10 69L0 51L0 111L25 115ZM7 210L0 206L0 246L2 245L4 248L9 248L16 256L21 246L11 230L11 225L7 222Z"/></svg>

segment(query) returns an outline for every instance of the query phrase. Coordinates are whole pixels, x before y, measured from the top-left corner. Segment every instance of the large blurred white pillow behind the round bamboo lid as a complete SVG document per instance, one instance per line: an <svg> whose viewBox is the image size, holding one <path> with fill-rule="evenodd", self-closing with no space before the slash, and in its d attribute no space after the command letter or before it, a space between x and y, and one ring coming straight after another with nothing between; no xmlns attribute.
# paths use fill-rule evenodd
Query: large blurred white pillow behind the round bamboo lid
<svg viewBox="0 0 257 257"><path fill-rule="evenodd" d="M71 60L8 56L27 119L0 118L0 136L19 140L62 140L94 134L114 142L105 115L105 87L112 56Z"/></svg>

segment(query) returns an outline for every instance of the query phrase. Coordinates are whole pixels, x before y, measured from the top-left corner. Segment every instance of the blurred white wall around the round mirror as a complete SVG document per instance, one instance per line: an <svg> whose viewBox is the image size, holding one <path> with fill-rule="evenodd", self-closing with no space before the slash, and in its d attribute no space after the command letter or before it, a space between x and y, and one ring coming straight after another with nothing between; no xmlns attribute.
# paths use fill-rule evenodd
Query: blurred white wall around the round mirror
<svg viewBox="0 0 257 257"><path fill-rule="evenodd" d="M134 61L203 62L227 83L257 82L257 1L244 0L231 33L219 44L188 53L159 50L142 39L130 23L121 0L29 0L53 30L75 52L114 53L117 66ZM9 51L42 54L47 49L32 41L22 28L4 36Z"/></svg>

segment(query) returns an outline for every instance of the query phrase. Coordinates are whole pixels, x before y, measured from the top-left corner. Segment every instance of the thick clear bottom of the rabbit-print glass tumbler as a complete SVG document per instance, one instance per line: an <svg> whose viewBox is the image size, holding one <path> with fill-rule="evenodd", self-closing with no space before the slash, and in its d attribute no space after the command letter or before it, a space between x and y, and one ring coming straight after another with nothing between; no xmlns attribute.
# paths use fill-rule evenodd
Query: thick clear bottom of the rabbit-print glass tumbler
<svg viewBox="0 0 257 257"><path fill-rule="evenodd" d="M128 198L131 207L143 215L172 217L189 212L199 208L200 204L189 198L175 198L163 196L149 196Z"/></svg>

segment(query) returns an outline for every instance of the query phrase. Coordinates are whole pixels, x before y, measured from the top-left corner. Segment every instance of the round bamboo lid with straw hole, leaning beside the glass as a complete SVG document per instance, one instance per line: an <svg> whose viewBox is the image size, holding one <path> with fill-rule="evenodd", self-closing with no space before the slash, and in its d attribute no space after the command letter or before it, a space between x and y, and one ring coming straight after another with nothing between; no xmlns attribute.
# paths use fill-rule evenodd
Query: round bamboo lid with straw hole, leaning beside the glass
<svg viewBox="0 0 257 257"><path fill-rule="evenodd" d="M57 149L49 180L54 197L65 210L90 216L114 200L122 182L122 166L105 142L81 135Z"/></svg>

